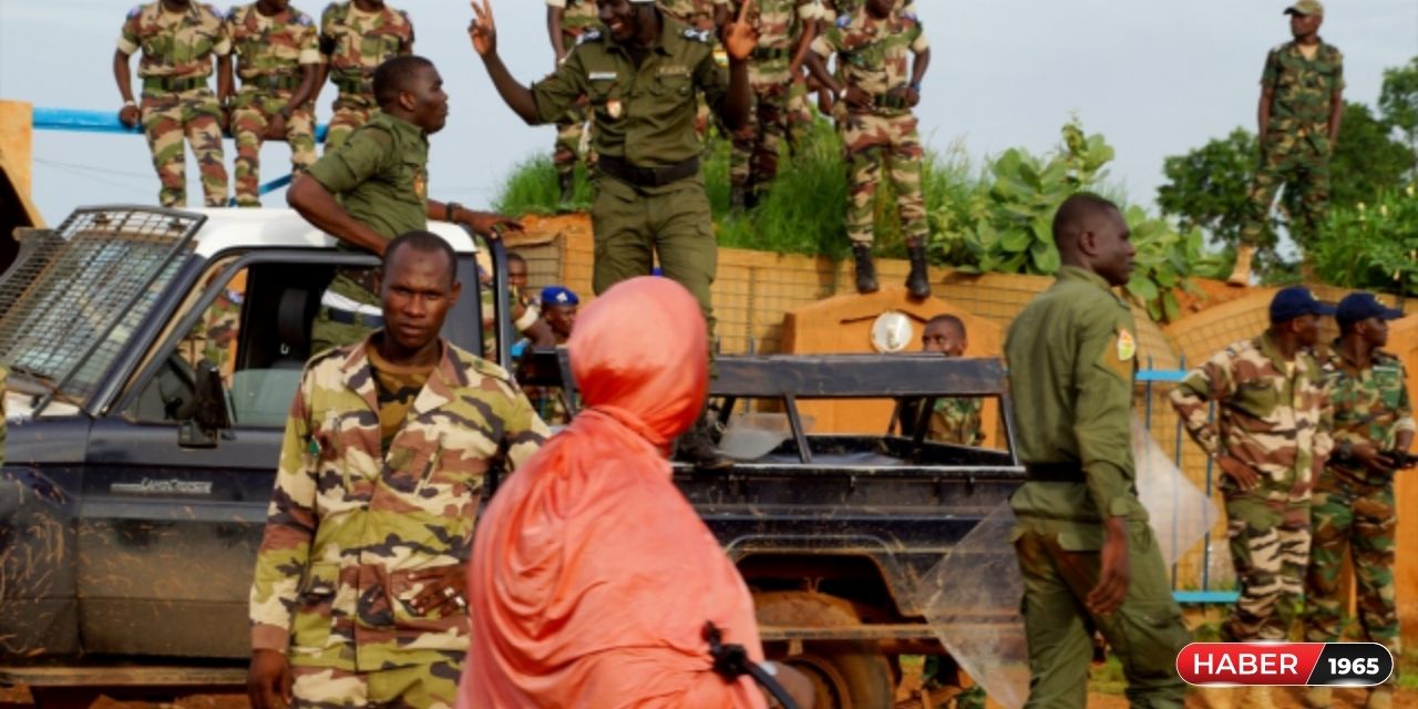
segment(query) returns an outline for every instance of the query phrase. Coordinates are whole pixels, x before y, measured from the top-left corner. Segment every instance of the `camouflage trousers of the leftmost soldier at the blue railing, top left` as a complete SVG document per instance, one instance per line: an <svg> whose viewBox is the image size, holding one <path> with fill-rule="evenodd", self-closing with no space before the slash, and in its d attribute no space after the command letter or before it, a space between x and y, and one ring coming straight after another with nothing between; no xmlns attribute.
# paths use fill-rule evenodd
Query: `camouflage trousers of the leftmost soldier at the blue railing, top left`
<svg viewBox="0 0 1418 709"><path fill-rule="evenodd" d="M208 207L227 204L227 166L221 153L221 106L207 88L174 94L143 94L143 135L153 153L153 169L162 190L163 207L187 206L187 153L183 138L191 145L201 173L201 191Z"/></svg>

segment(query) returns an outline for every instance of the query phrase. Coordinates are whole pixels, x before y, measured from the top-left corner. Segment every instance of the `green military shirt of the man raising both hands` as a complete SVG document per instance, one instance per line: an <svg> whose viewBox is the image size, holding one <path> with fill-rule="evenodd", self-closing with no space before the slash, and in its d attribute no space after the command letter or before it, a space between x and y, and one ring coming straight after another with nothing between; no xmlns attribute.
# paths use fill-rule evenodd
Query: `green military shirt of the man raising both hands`
<svg viewBox="0 0 1418 709"><path fill-rule="evenodd" d="M591 102L591 147L637 167L661 167L703 152L695 133L698 99L718 112L729 77L713 61L713 38L661 13L661 33L644 64L610 33L587 30L556 72L532 85L537 122L553 123L583 95Z"/></svg>

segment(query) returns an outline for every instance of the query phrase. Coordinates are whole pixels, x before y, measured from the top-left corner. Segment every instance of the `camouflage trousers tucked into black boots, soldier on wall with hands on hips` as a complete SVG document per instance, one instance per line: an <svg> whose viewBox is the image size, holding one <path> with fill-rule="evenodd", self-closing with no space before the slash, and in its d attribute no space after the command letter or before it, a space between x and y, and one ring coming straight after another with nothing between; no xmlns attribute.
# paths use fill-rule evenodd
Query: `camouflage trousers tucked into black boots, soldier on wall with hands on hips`
<svg viewBox="0 0 1418 709"><path fill-rule="evenodd" d="M847 150L847 238L871 244L875 237L876 187L882 172L896 191L902 237L908 247L926 240L926 203L920 173L923 152L916 135L916 116L847 113L841 126Z"/></svg>

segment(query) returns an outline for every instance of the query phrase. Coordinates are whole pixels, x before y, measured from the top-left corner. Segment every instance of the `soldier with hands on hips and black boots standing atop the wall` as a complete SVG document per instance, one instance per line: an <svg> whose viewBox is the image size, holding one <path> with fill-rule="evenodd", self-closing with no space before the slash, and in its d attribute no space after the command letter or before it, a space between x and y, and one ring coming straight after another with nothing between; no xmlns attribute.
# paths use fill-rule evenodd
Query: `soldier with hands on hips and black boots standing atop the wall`
<svg viewBox="0 0 1418 709"><path fill-rule="evenodd" d="M828 74L827 58L837 54L842 81ZM910 74L906 55L915 54ZM926 271L926 204L920 169L925 153L916 135L912 106L920 102L920 81L930 65L930 45L916 7L896 9L895 0L865 0L837 16L813 41L807 65L837 101L845 101L841 125L847 147L847 237L856 261L856 292L878 289L872 262L876 186L889 170L900 230L910 257L906 289L913 298L930 295Z"/></svg>

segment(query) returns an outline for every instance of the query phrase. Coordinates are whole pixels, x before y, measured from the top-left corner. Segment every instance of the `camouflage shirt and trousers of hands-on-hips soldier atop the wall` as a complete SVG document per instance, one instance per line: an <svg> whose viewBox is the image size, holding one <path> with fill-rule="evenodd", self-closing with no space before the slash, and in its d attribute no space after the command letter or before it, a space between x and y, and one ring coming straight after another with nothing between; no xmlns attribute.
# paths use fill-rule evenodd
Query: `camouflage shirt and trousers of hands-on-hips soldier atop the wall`
<svg viewBox="0 0 1418 709"><path fill-rule="evenodd" d="M888 92L908 85L908 55L927 48L913 4L892 10L885 20L876 20L865 7L856 7L839 14L813 41L813 51L824 60L838 54L845 85L856 86L875 99L868 111L844 108L841 126L848 166L847 237L854 244L869 245L873 241L873 206L882 170L889 170L896 191L906 245L925 244L926 204L920 191L925 153L916 135L916 116ZM845 106L845 102L841 104Z"/></svg>

